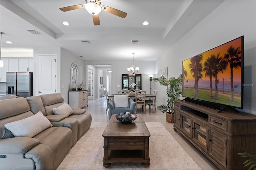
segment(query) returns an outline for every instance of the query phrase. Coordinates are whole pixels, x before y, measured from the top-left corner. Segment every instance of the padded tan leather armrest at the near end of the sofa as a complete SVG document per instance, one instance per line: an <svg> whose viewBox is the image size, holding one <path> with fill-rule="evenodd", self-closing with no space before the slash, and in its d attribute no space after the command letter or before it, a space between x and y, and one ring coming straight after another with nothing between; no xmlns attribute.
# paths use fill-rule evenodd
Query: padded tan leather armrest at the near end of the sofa
<svg viewBox="0 0 256 170"><path fill-rule="evenodd" d="M40 144L36 138L14 137L0 140L0 153L25 154L31 148Z"/></svg>

